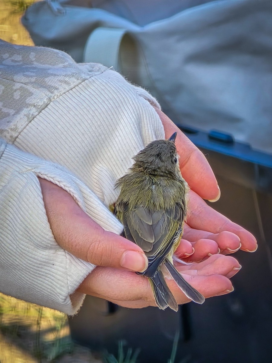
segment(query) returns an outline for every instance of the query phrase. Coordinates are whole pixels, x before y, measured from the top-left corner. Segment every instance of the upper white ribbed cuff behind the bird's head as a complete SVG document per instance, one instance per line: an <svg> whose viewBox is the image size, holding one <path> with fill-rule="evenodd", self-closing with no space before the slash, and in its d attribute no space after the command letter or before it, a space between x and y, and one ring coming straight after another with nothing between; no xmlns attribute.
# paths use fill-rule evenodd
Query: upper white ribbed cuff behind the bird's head
<svg viewBox="0 0 272 363"><path fill-rule="evenodd" d="M108 207L118 197L117 179L164 129L147 91L106 70L52 101L14 144L65 166Z"/></svg>

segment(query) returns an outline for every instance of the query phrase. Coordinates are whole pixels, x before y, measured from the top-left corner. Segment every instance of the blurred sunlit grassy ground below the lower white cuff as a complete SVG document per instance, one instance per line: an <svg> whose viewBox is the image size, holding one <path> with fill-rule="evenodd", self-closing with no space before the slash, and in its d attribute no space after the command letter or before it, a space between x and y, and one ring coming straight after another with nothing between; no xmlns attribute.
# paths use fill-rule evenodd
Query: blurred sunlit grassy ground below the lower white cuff
<svg viewBox="0 0 272 363"><path fill-rule="evenodd" d="M58 311L0 294L1 363L100 363L73 344L67 317Z"/></svg>

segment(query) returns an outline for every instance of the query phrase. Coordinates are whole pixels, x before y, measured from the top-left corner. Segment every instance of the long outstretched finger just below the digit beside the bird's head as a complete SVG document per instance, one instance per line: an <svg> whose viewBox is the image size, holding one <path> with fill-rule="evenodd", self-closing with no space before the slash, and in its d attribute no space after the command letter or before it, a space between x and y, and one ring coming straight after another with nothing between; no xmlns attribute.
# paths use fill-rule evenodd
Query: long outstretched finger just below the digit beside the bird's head
<svg viewBox="0 0 272 363"><path fill-rule="evenodd" d="M239 237L242 250L247 252L256 251L257 241L253 234L209 207L209 205L193 191L190 191L189 195L190 213L187 216L186 223L191 228L205 230L215 234L223 231L232 232ZM186 238L189 239L187 235Z"/></svg>

